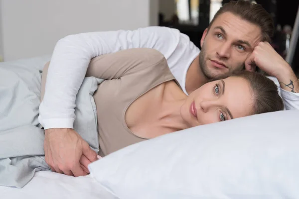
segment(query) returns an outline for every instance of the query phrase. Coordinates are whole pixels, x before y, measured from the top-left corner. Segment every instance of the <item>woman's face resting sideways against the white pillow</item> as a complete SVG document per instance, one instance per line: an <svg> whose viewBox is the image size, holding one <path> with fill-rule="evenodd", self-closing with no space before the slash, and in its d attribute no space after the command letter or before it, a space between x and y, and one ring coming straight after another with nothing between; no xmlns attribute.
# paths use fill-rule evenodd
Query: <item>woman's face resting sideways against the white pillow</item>
<svg viewBox="0 0 299 199"><path fill-rule="evenodd" d="M207 83L188 96L180 113L190 127L252 115L253 92L247 80L229 77Z"/></svg>

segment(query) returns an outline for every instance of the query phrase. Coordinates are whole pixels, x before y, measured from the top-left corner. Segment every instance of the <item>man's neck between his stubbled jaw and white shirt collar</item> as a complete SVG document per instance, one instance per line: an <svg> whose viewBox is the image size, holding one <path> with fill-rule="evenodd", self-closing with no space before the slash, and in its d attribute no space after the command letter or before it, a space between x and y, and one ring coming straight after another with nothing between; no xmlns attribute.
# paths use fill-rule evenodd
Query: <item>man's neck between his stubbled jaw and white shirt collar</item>
<svg viewBox="0 0 299 199"><path fill-rule="evenodd" d="M199 55L191 63L187 75L186 75L186 84L185 88L190 95L193 91L207 83L208 79L202 74L202 71L199 67Z"/></svg>

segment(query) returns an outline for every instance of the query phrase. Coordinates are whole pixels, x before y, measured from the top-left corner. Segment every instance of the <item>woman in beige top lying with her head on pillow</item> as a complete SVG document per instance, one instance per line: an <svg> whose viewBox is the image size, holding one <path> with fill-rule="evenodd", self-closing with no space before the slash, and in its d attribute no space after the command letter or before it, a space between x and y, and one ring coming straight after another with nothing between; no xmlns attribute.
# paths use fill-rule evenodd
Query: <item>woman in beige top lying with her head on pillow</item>
<svg viewBox="0 0 299 199"><path fill-rule="evenodd" d="M252 72L209 82L187 96L164 56L147 48L98 56L86 76L106 80L93 96L100 156L166 133L284 108L274 82Z"/></svg>

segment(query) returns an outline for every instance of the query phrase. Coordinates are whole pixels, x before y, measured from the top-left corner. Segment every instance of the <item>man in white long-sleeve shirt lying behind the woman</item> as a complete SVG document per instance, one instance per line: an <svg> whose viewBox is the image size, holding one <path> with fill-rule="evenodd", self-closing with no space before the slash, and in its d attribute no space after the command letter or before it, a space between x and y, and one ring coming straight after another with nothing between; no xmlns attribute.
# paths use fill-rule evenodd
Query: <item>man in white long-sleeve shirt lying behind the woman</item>
<svg viewBox="0 0 299 199"><path fill-rule="evenodd" d="M299 109L299 81L269 44L273 28L271 16L260 5L240 0L225 4L216 13L202 35L201 51L186 35L166 27L82 33L59 40L39 109L47 164L66 175L88 174L87 165L97 154L73 130L76 94L90 59L122 49L159 50L186 94L212 78L258 66L278 79L286 108Z"/></svg>

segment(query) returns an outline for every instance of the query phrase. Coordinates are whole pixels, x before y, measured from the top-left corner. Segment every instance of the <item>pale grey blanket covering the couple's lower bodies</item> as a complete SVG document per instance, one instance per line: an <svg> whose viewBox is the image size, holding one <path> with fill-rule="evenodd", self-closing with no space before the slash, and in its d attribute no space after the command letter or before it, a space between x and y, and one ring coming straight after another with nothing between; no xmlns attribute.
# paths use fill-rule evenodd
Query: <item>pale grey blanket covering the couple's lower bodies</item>
<svg viewBox="0 0 299 199"><path fill-rule="evenodd" d="M41 74L50 57L0 63L0 186L22 188L44 160L44 130L38 122ZM99 151L93 93L103 80L84 79L76 99L74 129Z"/></svg>

